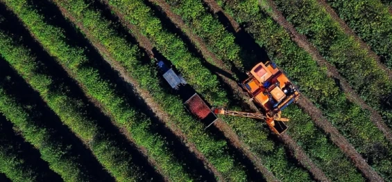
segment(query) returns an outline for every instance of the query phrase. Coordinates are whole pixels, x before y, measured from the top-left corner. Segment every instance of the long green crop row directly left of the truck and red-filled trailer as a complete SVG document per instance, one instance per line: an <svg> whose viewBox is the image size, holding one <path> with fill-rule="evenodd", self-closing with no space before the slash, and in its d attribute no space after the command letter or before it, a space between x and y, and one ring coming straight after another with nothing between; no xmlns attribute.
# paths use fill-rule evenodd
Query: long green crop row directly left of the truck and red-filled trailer
<svg viewBox="0 0 392 182"><path fill-rule="evenodd" d="M104 19L98 11L94 10L84 1L58 1L59 5L69 10L78 23L83 25L89 35L99 41L105 48L110 57L123 66L130 77L135 78L142 89L151 93L153 98L164 111L167 111L172 121L178 125L186 134L191 143L203 153L207 159L228 179L233 181L244 181L245 174L241 167L235 165L232 157L225 152L227 145L221 139L216 139L212 134L205 134L203 125L194 120L185 112L181 100L162 90L157 84L157 71L153 66L146 64L140 58L139 50L135 45L126 41L119 33L110 27L108 20ZM103 55L107 56L107 55ZM135 69L137 68L137 69ZM178 175L176 170L167 171L176 181L183 181L185 177ZM182 178L182 179L181 179Z"/></svg>

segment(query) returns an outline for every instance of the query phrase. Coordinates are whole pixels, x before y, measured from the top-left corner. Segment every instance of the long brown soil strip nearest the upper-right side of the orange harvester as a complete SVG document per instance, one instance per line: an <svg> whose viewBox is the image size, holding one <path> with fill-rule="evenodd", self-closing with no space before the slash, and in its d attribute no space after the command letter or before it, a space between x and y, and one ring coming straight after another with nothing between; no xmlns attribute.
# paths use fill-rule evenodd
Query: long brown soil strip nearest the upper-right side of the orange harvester
<svg viewBox="0 0 392 182"><path fill-rule="evenodd" d="M382 131L386 139L392 142L392 131L383 122L380 113L375 111L375 109L373 109L372 107L368 106L368 104L366 104L366 102L363 99L361 99L361 97L357 95L357 93L353 89L351 89L350 84L348 84L346 79L344 79L339 74L338 70L332 64L328 63L327 60L325 60L323 56L320 55L317 48L313 46L309 41L307 41L307 37L305 35L298 33L296 31L296 28L294 28L293 24L291 24L289 21L287 21L287 19L284 18L282 12L278 10L278 8L275 6L275 3L273 3L272 0L266 0L266 1L269 3L268 8L271 8L272 10L271 17L273 17L273 19L277 21L278 24L280 24L280 26L286 29L286 31L290 34L291 39L294 42L296 42L298 46L300 46L300 48L307 51L307 53L309 53L312 56L313 60L316 60L316 62L320 66L327 67L328 76L340 81L340 87L346 93L348 100L354 102L355 104L359 104L359 106L362 109L367 109L368 111L370 111L371 113L370 120L377 126L378 129L380 129L380 131Z"/></svg>

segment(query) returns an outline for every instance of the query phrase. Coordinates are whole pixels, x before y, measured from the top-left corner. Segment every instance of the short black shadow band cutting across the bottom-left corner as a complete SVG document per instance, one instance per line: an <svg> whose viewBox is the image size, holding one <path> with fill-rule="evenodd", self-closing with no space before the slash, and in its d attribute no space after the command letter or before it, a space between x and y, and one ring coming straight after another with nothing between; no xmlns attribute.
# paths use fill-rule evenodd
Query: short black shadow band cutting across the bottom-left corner
<svg viewBox="0 0 392 182"><path fill-rule="evenodd" d="M42 160L40 152L27 143L20 134L15 133L12 123L2 113L0 113L0 125L1 136L5 137L1 139L10 141L10 143L1 143L1 145L12 145L17 156L26 161L25 165L32 166L37 172L37 181L62 181L61 176L49 169L49 164ZM3 181L1 175L0 181Z"/></svg>

